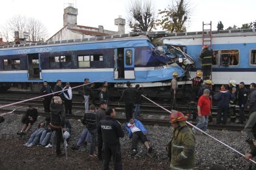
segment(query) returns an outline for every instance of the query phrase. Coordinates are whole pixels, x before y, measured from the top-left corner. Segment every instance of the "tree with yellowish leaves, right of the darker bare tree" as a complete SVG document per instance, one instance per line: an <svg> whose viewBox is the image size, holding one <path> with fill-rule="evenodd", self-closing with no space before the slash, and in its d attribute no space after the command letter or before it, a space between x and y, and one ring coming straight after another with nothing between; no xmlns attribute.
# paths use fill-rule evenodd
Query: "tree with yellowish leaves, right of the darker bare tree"
<svg viewBox="0 0 256 170"><path fill-rule="evenodd" d="M185 32L185 23L188 22L191 8L188 2L184 0L176 0L172 5L168 5L164 10L159 10L161 16L158 19L158 25L170 32Z"/></svg>

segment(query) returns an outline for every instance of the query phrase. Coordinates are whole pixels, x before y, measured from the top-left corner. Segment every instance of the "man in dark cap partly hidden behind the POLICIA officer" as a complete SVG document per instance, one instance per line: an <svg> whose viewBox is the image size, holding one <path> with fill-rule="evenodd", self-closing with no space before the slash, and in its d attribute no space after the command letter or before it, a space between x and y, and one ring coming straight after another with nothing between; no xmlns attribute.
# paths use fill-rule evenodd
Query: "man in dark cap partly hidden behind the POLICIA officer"
<svg viewBox="0 0 256 170"><path fill-rule="evenodd" d="M100 101L100 108L96 111L96 125L100 124L100 121L106 118L106 109L108 109L108 103L106 100ZM102 145L103 141L100 135L98 135L98 160L102 160Z"/></svg>

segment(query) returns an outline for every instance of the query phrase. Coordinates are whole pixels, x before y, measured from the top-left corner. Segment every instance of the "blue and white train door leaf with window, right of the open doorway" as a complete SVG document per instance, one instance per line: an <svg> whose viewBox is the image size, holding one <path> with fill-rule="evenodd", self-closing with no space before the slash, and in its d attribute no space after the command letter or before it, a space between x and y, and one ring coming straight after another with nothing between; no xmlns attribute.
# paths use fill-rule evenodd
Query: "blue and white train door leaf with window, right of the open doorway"
<svg viewBox="0 0 256 170"><path fill-rule="evenodd" d="M134 48L125 48L124 49L125 56L125 79L135 79L134 75Z"/></svg>

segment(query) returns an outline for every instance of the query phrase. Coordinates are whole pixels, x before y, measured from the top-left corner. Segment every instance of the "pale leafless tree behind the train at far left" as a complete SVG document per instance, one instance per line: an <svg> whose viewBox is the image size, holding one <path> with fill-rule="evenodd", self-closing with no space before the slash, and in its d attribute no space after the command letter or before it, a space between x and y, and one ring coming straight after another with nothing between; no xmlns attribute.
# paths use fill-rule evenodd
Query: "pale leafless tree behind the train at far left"
<svg viewBox="0 0 256 170"><path fill-rule="evenodd" d="M6 29L7 32L12 33L14 31L28 32L28 40L32 42L41 41L47 37L47 29L38 19L21 15L10 18L6 23Z"/></svg>

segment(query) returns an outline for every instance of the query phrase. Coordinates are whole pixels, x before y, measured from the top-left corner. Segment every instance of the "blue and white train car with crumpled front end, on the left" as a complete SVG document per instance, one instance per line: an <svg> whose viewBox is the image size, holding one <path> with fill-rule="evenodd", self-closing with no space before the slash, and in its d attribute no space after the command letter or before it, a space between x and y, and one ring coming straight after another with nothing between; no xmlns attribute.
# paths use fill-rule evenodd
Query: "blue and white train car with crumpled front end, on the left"
<svg viewBox="0 0 256 170"><path fill-rule="evenodd" d="M0 82L83 82L89 78L90 82L129 80L144 87L164 86L172 73L183 77L193 64L187 55L183 61L157 53L143 35L9 45L0 47Z"/></svg>

